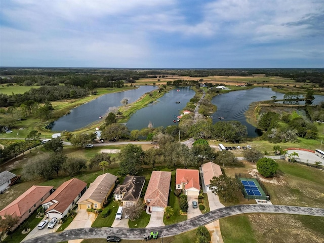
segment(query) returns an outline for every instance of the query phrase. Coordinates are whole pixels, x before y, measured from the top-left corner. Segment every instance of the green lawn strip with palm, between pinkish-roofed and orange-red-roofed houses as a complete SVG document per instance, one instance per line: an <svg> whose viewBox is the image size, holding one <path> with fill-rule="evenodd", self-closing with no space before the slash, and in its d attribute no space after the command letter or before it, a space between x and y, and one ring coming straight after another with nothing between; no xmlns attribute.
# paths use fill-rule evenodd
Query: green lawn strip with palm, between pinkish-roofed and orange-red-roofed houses
<svg viewBox="0 0 324 243"><path fill-rule="evenodd" d="M171 175L171 192L169 195L169 206L173 208L174 215L167 219L166 216L163 218L165 225L175 224L187 220L187 215L180 214L179 199L175 194L174 190L176 188L176 171L172 171Z"/></svg>

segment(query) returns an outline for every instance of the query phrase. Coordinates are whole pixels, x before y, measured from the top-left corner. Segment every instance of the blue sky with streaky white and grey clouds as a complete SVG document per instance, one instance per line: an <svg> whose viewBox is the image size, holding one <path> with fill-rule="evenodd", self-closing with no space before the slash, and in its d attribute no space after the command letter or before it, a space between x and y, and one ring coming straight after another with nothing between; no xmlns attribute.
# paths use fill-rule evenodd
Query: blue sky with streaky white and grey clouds
<svg viewBox="0 0 324 243"><path fill-rule="evenodd" d="M0 65L324 67L324 1L0 0Z"/></svg>

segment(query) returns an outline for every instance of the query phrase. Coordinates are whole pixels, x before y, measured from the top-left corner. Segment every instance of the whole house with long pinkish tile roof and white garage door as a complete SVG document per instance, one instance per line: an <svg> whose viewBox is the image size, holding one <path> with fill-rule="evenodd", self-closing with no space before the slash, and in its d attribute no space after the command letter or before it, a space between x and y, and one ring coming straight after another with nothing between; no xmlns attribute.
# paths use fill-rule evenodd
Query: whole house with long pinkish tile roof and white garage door
<svg viewBox="0 0 324 243"><path fill-rule="evenodd" d="M144 196L149 212L163 212L164 208L168 206L170 182L171 172L152 171Z"/></svg>

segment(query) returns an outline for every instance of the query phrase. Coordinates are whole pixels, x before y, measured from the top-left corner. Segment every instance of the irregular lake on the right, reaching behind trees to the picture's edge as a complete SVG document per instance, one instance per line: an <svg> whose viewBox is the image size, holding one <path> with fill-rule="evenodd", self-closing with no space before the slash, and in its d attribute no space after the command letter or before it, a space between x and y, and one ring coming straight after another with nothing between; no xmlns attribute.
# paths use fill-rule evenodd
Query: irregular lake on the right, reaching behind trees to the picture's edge
<svg viewBox="0 0 324 243"><path fill-rule="evenodd" d="M227 121L238 120L248 128L249 137L258 137L261 135L260 131L247 122L244 113L252 102L271 100L272 96L276 96L278 100L284 98L284 94L274 92L270 88L254 88L217 95L212 99L212 103L217 105L217 111L213 114L213 123L220 120L218 117L224 117L222 120ZM324 96L316 95L313 104L318 104L321 101L324 101Z"/></svg>

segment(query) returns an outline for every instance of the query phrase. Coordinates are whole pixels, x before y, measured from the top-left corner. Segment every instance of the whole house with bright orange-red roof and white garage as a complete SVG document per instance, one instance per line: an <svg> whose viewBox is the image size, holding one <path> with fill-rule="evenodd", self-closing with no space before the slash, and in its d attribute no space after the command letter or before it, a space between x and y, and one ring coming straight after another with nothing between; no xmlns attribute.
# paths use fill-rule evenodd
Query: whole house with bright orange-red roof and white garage
<svg viewBox="0 0 324 243"><path fill-rule="evenodd" d="M198 196L200 192L199 171L177 169L176 189L182 189L188 196Z"/></svg>

